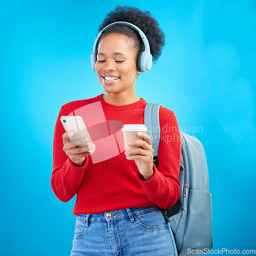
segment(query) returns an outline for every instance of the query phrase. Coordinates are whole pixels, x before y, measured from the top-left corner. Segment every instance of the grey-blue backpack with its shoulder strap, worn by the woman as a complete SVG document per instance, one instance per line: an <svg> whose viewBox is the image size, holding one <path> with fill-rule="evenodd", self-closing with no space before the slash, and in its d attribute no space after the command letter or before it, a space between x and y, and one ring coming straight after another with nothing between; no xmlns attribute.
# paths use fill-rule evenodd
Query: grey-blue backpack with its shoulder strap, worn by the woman
<svg viewBox="0 0 256 256"><path fill-rule="evenodd" d="M160 141L159 108L147 103L144 124L151 136L154 163L158 166ZM211 194L209 176L202 144L193 136L181 132L180 197L169 209L162 210L172 227L179 256L200 255L212 248Z"/></svg>

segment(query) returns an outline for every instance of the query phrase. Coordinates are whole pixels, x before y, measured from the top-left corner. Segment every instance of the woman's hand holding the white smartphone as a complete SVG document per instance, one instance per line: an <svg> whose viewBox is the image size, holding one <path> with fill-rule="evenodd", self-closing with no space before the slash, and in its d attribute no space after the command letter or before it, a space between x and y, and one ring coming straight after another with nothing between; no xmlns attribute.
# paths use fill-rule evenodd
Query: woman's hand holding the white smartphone
<svg viewBox="0 0 256 256"><path fill-rule="evenodd" d="M88 138L82 138L71 142L69 139L69 133L66 132L62 135L62 139L64 144L63 151L65 151L70 160L78 167L82 166L85 157L90 156L94 152L88 152L95 149L94 144L77 147L80 144L87 144L89 141ZM88 141L85 139L88 139Z"/></svg>

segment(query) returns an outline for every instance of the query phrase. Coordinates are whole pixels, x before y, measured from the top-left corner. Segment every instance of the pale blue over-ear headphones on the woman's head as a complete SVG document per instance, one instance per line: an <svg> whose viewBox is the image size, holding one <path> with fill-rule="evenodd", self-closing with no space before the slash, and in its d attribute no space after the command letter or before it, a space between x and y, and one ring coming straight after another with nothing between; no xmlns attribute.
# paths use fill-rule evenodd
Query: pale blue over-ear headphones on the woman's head
<svg viewBox="0 0 256 256"><path fill-rule="evenodd" d="M145 50L141 51L139 53L138 56L138 69L140 72L147 72L148 70L151 69L152 66L152 55L150 53L150 44L148 44L148 40L145 36L145 34L135 25L128 23L128 22L114 22L108 26L106 26L105 28L103 28L99 34L97 35L95 41L94 41L94 45L93 45L93 52L91 55L91 65L92 68L95 70L95 63L97 61L97 54L98 54L98 50L96 50L98 48L98 44L99 44L99 38L101 36L102 33L104 33L106 30L108 30L109 28L115 26L115 25L126 25L130 28L133 28L135 31L139 32L141 39L144 43L145 46Z"/></svg>

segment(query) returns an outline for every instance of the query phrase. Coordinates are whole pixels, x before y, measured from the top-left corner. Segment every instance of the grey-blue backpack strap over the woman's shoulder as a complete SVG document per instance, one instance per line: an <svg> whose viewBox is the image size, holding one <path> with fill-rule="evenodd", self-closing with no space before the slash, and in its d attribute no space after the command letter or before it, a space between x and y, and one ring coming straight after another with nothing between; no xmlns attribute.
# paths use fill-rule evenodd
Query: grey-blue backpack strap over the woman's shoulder
<svg viewBox="0 0 256 256"><path fill-rule="evenodd" d="M160 142L159 108L161 105L159 103L147 103L144 110L144 124L147 128L146 134L151 137L154 157L158 156Z"/></svg>

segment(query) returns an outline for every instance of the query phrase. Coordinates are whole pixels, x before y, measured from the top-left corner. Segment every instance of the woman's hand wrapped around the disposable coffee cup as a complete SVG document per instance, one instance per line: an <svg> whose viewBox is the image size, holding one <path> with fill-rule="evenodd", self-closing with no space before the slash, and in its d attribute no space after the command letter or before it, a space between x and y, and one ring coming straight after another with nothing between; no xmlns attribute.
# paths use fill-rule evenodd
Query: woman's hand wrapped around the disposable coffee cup
<svg viewBox="0 0 256 256"><path fill-rule="evenodd" d="M126 158L129 160L135 160L138 166L140 174L144 177L144 180L150 180L153 177L153 156L154 150L151 144L151 137L144 133L138 132L138 137L143 140L132 140L129 146L138 146L125 152ZM131 154L138 154L133 155Z"/></svg>

